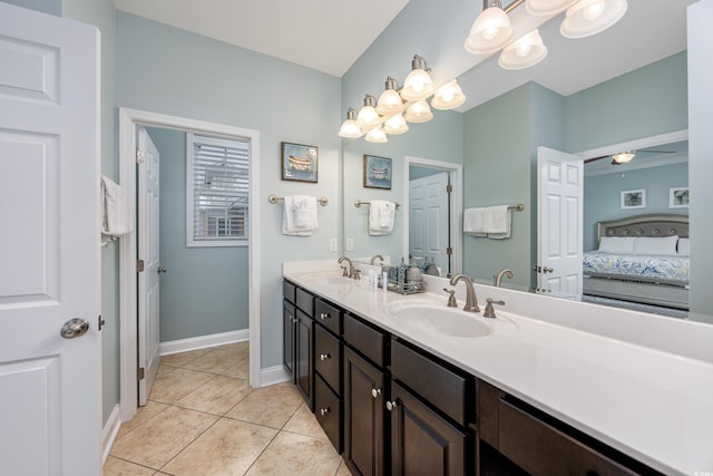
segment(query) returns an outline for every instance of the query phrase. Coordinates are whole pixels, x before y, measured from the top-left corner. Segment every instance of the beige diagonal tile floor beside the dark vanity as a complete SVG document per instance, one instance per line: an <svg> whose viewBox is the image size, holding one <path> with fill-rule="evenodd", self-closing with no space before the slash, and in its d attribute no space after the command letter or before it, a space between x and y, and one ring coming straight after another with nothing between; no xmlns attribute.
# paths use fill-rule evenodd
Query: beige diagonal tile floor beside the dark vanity
<svg viewBox="0 0 713 476"><path fill-rule="evenodd" d="M350 474L292 383L247 381L247 342L162 357L104 475Z"/></svg>

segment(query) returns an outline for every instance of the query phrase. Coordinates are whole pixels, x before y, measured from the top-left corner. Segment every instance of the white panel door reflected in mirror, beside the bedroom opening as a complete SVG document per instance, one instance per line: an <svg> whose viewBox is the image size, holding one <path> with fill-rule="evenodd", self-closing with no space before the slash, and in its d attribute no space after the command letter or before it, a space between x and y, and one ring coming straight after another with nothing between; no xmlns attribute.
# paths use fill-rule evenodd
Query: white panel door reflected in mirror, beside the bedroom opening
<svg viewBox="0 0 713 476"><path fill-rule="evenodd" d="M537 148L537 291L582 295L584 161Z"/></svg>

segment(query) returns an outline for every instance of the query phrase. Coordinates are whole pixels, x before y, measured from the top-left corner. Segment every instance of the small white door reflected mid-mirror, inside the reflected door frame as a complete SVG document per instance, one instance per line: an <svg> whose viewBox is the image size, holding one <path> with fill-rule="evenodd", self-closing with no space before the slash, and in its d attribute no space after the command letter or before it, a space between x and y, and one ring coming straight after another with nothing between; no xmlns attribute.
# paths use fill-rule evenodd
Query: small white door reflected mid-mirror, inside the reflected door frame
<svg viewBox="0 0 713 476"><path fill-rule="evenodd" d="M409 182L409 255L433 258L449 272L448 173Z"/></svg>

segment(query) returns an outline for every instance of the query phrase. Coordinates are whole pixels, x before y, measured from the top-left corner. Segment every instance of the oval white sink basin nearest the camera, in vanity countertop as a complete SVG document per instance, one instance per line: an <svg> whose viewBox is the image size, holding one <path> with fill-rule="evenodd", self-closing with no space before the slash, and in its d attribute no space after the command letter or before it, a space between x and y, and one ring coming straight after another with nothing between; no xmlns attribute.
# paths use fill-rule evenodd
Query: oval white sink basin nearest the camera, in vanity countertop
<svg viewBox="0 0 713 476"><path fill-rule="evenodd" d="M387 312L400 323L450 337L484 338L499 333L500 328L516 329L510 320L486 320L481 313L466 312L433 302L403 302L390 305Z"/></svg>

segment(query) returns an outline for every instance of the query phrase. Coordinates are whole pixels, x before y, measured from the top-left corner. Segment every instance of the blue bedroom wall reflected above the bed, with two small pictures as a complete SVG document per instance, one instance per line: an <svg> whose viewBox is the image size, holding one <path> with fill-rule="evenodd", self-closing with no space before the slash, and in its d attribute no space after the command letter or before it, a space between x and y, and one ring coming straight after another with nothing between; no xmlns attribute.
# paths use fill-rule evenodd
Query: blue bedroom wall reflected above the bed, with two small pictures
<svg viewBox="0 0 713 476"><path fill-rule="evenodd" d="M642 213L680 213L688 208L668 208L668 188L688 186L688 164L639 168L624 174L605 174L584 179L584 251L595 250L597 222L618 220ZM646 190L646 208L622 210L621 192Z"/></svg>

